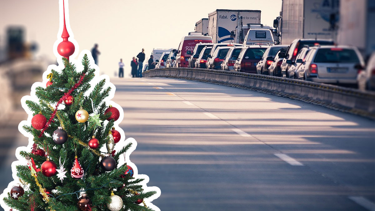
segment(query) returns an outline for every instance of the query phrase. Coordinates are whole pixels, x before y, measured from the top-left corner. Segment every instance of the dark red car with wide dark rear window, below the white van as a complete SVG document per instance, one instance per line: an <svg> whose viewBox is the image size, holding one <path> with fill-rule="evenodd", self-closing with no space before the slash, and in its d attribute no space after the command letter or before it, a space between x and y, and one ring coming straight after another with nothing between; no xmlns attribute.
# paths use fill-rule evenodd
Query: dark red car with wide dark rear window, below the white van
<svg viewBox="0 0 375 211"><path fill-rule="evenodd" d="M238 58L236 56L232 57L233 60L236 59L234 71L257 73L257 64L267 48L267 45L248 45L242 48Z"/></svg>

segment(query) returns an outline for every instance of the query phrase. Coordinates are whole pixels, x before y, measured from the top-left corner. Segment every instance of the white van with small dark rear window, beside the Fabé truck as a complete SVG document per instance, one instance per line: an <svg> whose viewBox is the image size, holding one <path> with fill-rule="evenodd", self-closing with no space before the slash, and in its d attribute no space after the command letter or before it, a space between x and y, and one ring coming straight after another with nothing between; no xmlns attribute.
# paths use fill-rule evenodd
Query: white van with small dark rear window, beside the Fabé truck
<svg viewBox="0 0 375 211"><path fill-rule="evenodd" d="M245 36L246 45L275 45L272 32L269 29L249 29Z"/></svg>

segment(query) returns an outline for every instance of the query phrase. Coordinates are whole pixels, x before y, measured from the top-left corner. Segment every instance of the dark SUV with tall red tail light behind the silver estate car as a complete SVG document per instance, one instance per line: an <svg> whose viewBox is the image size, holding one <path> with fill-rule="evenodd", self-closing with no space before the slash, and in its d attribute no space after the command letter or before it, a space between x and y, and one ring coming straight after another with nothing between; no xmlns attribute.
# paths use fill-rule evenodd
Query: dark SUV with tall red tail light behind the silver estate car
<svg viewBox="0 0 375 211"><path fill-rule="evenodd" d="M329 39L295 39L290 45L287 50L287 53L285 53L285 58L282 61L281 64L281 70L284 72L288 72L288 69L290 68L290 64L287 63L287 60L292 60L292 62L296 61L296 56L300 52L300 50L304 46L323 46L323 45L334 45L335 43L332 40ZM286 78L289 77L289 75L285 75Z"/></svg>

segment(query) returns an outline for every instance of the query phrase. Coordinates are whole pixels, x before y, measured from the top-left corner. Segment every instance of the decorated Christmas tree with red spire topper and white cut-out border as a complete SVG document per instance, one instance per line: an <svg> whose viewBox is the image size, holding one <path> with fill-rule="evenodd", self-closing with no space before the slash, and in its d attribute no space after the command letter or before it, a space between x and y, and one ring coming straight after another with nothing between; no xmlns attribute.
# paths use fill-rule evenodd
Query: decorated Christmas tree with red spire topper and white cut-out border
<svg viewBox="0 0 375 211"><path fill-rule="evenodd" d="M50 65L43 74L46 81L34 83L31 95L21 99L29 118L19 129L29 145L16 151L15 181L1 194L1 206L19 211L159 210L150 203L159 189L147 187L148 177L138 175L130 163L136 142L125 140L118 127L123 110L110 101L115 86L108 76L99 76L89 51L69 61L78 45L68 41L67 7L60 0L62 41L55 44L63 56L60 65Z"/></svg>

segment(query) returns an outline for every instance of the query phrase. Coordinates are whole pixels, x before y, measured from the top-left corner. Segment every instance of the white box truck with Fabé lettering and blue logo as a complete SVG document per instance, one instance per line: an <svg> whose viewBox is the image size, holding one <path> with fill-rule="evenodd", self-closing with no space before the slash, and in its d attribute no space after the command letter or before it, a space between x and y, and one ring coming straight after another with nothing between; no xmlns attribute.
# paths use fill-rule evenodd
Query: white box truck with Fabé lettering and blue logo
<svg viewBox="0 0 375 211"><path fill-rule="evenodd" d="M260 15L260 10L216 9L208 14L208 36L214 43L233 43L231 32L236 30L238 17L246 24L260 24Z"/></svg>

